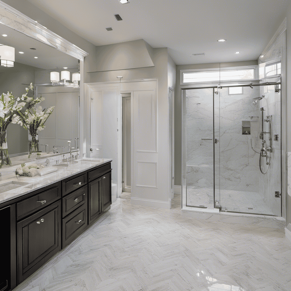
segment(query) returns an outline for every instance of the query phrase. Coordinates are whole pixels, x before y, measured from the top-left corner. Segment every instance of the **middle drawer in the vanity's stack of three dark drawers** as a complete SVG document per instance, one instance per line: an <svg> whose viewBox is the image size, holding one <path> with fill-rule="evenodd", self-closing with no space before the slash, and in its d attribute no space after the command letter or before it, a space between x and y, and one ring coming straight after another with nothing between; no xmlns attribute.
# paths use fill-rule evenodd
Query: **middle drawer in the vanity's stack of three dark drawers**
<svg viewBox="0 0 291 291"><path fill-rule="evenodd" d="M63 217L83 204L87 205L87 185L63 197Z"/></svg>

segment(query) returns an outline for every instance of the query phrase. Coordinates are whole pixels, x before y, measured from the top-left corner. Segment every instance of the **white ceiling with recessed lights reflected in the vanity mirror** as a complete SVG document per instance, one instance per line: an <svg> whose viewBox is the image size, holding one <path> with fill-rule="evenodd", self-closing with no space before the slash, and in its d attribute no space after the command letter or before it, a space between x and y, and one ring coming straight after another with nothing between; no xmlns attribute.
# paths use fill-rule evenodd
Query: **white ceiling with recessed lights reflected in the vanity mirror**
<svg viewBox="0 0 291 291"><path fill-rule="evenodd" d="M2 34L7 34L7 36L3 37ZM17 63L45 70L63 67L78 68L78 60L72 56L3 24L0 24L0 44L15 48L15 62ZM31 50L32 47L36 50ZM19 54L19 52L24 52L24 54ZM35 56L38 58L34 58ZM7 68L1 67L0 70L7 70Z"/></svg>

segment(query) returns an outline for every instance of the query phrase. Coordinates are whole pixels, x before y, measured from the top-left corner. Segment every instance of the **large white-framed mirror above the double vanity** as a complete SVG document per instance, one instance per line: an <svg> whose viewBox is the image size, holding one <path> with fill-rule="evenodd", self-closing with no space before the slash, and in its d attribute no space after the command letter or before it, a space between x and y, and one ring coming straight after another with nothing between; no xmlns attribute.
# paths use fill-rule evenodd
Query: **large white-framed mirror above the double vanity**
<svg viewBox="0 0 291 291"><path fill-rule="evenodd" d="M2 2L1 5L5 4ZM15 56L13 66L3 63L0 66L0 94L9 91L14 97L21 97L32 83L33 91L29 90L27 96L44 97L45 100L38 104L42 108L54 106L45 128L38 131L38 155L29 159L29 131L19 124L8 125L7 144L12 165L69 152L70 147L79 150L82 146L79 87L83 73L80 71L87 53L45 27L33 24L32 19L18 11L15 19L15 11L8 5L4 9L0 6L1 11L6 14L6 19L10 19L5 25L0 23L0 46L12 47ZM29 26L31 29L28 30ZM59 80L55 80L54 76L58 74Z"/></svg>

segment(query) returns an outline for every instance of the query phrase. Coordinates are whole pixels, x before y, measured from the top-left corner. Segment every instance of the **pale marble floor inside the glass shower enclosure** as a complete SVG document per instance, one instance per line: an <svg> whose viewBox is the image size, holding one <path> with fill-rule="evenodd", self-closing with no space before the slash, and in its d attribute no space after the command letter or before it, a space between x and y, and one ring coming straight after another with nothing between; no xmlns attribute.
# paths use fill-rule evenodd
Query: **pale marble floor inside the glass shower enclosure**
<svg viewBox="0 0 291 291"><path fill-rule="evenodd" d="M213 209L213 189L187 186L187 206L201 205ZM220 205L228 211L274 215L257 192L220 190Z"/></svg>

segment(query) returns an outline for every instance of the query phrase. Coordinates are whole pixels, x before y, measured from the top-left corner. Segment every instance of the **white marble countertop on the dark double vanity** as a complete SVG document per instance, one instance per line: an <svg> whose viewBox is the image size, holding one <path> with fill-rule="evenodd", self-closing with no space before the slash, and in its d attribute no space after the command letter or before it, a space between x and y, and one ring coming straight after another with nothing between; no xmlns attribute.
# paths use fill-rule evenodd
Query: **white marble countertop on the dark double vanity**
<svg viewBox="0 0 291 291"><path fill-rule="evenodd" d="M5 175L3 175L3 172L2 172L2 178L0 182L0 203L13 200L14 198L23 196L32 191L43 188L45 186L49 186L50 184L54 184L65 178L84 172L86 170L89 170L91 168L105 164L110 161L112 161L112 159L83 158L83 159L79 159L73 162L60 163L60 164L68 164L68 166L53 165L53 166L45 167L44 169L56 168L57 171L46 174L46 175L42 175L42 176L36 175L34 177L26 177L26 176L19 176L19 175L16 176L14 173L16 167L11 168L9 172L7 172L7 170L5 169L6 173ZM17 177L18 177L18 180L17 180ZM12 183L12 181L14 181L15 183L21 184L21 186L1 193L1 191L3 191L1 190L1 187L3 189L5 184Z"/></svg>

